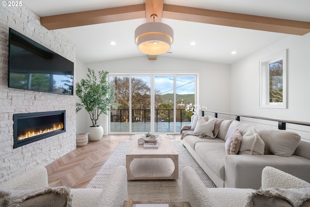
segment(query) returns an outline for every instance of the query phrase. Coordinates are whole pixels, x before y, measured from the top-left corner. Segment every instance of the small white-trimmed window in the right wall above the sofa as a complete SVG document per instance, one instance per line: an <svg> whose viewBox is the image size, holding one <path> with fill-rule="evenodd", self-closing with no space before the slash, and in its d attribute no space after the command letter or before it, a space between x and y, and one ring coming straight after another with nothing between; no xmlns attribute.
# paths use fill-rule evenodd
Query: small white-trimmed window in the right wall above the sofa
<svg viewBox="0 0 310 207"><path fill-rule="evenodd" d="M287 108L287 49L260 61L260 107Z"/></svg>

